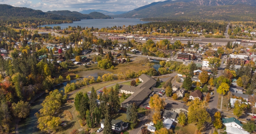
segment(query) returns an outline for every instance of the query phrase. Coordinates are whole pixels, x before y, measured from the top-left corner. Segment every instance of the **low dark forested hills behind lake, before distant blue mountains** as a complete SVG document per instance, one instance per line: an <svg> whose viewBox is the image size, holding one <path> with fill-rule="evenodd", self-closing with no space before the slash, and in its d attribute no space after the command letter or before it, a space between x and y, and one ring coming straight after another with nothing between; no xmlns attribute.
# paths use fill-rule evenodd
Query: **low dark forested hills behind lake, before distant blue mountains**
<svg viewBox="0 0 256 134"><path fill-rule="evenodd" d="M104 15L103 13L100 13L100 12L91 12L89 14L82 14L76 11L71 12L69 10L60 10L60 11L47 11L47 13L76 17L79 19L113 19L113 17Z"/></svg>

